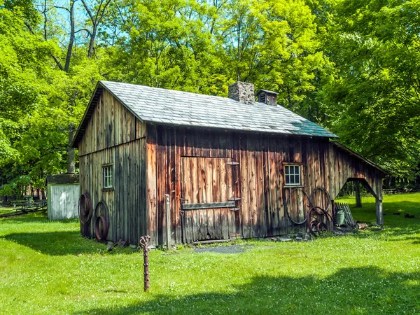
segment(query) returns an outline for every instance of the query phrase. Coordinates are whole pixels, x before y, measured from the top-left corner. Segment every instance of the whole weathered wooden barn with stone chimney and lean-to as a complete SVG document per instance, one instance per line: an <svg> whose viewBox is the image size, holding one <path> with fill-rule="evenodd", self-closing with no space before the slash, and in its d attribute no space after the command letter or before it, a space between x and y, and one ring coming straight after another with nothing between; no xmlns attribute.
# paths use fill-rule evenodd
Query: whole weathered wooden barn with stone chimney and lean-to
<svg viewBox="0 0 420 315"><path fill-rule="evenodd" d="M336 138L251 83L225 98L99 81L73 141L80 230L154 245L285 235L310 207L331 214L346 181L383 224L386 172Z"/></svg>

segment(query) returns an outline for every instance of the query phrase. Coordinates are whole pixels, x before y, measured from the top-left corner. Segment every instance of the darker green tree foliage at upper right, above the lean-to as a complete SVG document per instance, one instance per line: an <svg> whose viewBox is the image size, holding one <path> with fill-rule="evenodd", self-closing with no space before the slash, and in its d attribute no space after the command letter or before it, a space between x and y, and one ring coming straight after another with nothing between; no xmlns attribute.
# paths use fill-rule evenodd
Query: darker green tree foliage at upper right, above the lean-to
<svg viewBox="0 0 420 315"><path fill-rule="evenodd" d="M400 176L419 165L419 8L417 1L339 1L325 37L335 62L322 87L331 129Z"/></svg>

